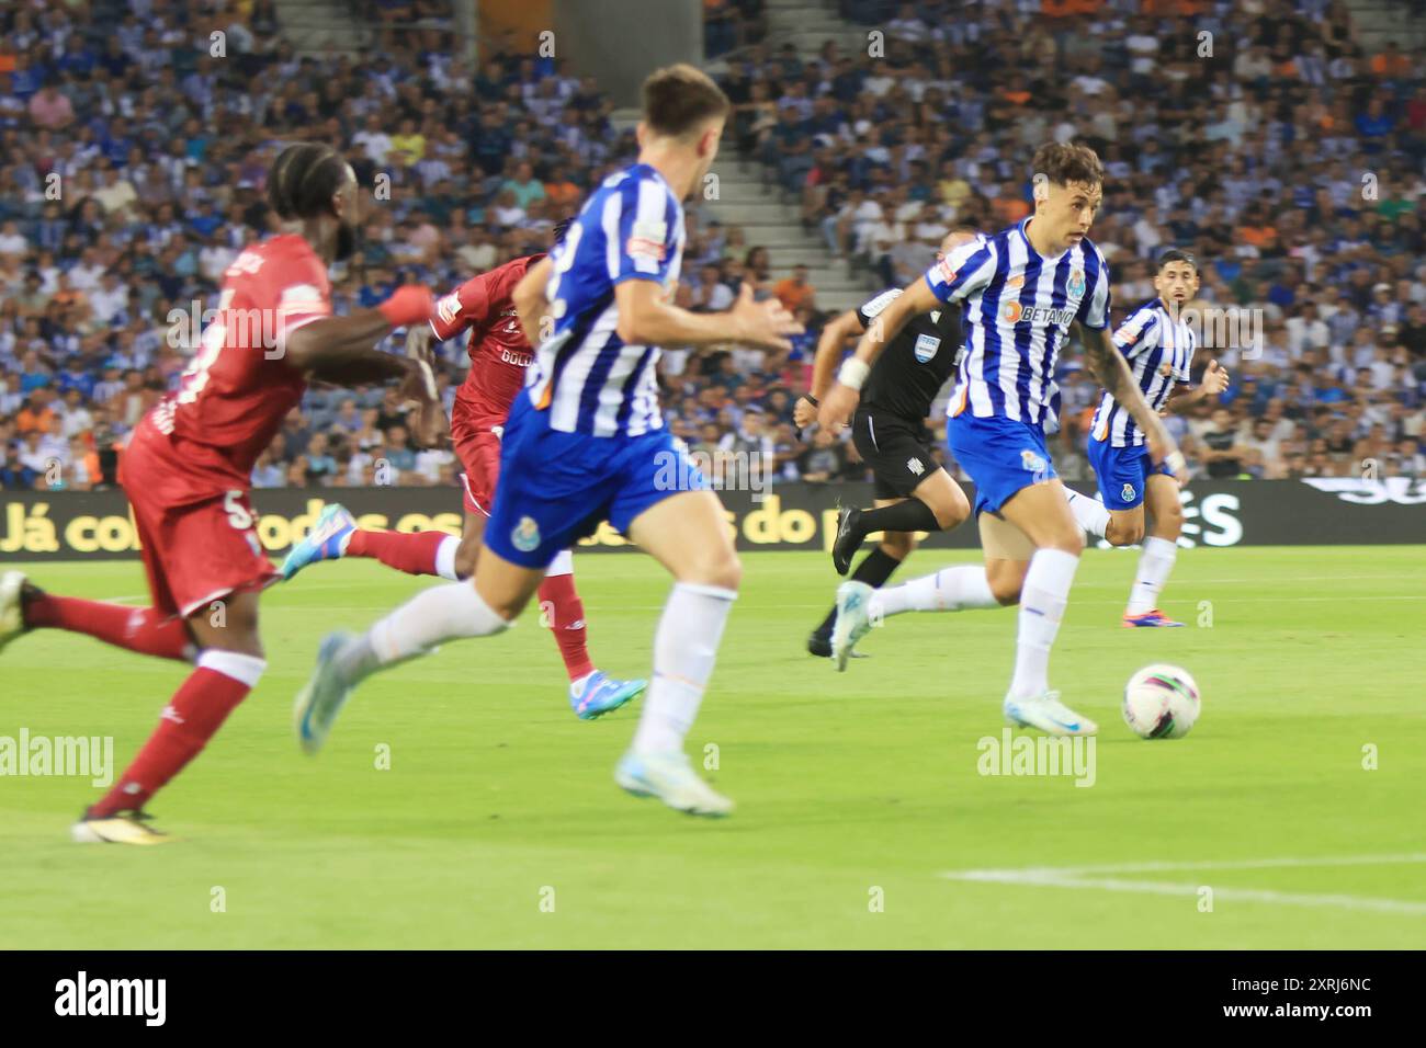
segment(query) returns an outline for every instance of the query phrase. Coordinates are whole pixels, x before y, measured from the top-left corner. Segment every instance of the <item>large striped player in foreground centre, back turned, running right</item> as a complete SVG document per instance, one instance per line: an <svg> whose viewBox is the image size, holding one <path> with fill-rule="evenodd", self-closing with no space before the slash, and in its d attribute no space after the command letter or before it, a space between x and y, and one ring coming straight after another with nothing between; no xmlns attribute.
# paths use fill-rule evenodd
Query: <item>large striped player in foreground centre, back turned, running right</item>
<svg viewBox="0 0 1426 1048"><path fill-rule="evenodd" d="M560 550L607 520L674 579L643 714L615 781L680 811L732 811L693 770L683 740L742 567L722 503L665 428L655 381L662 344L786 349L801 331L776 299L754 304L747 285L727 312L673 305L682 201L703 184L727 113L723 91L692 66L645 81L639 163L605 180L565 242L515 288L536 361L505 425L473 585L429 589L359 637L328 636L297 700L305 750L321 747L351 689L371 673L445 640L508 629Z"/></svg>

